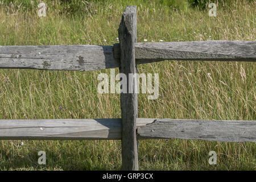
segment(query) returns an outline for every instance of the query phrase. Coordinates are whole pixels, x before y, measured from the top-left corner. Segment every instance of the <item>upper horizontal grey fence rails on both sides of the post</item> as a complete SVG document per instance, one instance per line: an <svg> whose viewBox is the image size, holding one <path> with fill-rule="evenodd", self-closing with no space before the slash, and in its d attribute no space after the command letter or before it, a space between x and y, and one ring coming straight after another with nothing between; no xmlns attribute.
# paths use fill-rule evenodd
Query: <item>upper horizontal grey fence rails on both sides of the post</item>
<svg viewBox="0 0 256 182"><path fill-rule="evenodd" d="M256 61L255 41L135 43L136 64L163 60ZM114 46L0 46L0 68L94 71L120 67Z"/></svg>

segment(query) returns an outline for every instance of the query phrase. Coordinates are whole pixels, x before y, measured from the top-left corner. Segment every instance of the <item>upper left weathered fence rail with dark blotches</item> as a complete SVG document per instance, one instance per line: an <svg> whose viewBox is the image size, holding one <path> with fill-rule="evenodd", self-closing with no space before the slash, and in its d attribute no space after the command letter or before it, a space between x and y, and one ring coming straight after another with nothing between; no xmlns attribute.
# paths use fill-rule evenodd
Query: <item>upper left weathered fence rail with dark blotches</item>
<svg viewBox="0 0 256 182"><path fill-rule="evenodd" d="M93 71L119 67L113 46L0 46L0 68Z"/></svg>

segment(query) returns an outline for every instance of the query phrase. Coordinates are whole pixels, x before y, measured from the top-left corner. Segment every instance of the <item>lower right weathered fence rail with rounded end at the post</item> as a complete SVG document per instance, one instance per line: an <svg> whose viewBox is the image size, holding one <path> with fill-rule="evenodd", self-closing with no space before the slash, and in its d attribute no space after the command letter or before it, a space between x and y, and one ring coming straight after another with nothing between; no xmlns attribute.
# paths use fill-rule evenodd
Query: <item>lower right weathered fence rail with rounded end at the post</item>
<svg viewBox="0 0 256 182"><path fill-rule="evenodd" d="M138 128L138 138L179 138L220 142L256 142L256 121L156 119Z"/></svg>

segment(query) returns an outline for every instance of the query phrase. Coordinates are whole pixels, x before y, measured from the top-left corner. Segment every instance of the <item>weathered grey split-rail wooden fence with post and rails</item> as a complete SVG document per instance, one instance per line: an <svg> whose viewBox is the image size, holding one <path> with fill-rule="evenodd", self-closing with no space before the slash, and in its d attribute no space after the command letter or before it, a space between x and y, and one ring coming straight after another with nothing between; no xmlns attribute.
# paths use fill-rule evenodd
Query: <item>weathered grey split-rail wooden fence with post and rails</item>
<svg viewBox="0 0 256 182"><path fill-rule="evenodd" d="M162 60L256 61L255 41L137 43L136 6L126 7L114 46L0 46L0 68L93 71ZM129 82L130 83L130 82ZM134 88L134 83L129 84ZM120 119L1 119L0 139L122 139L122 169L138 170L137 139L256 142L256 121L137 118L136 93L121 93Z"/></svg>

